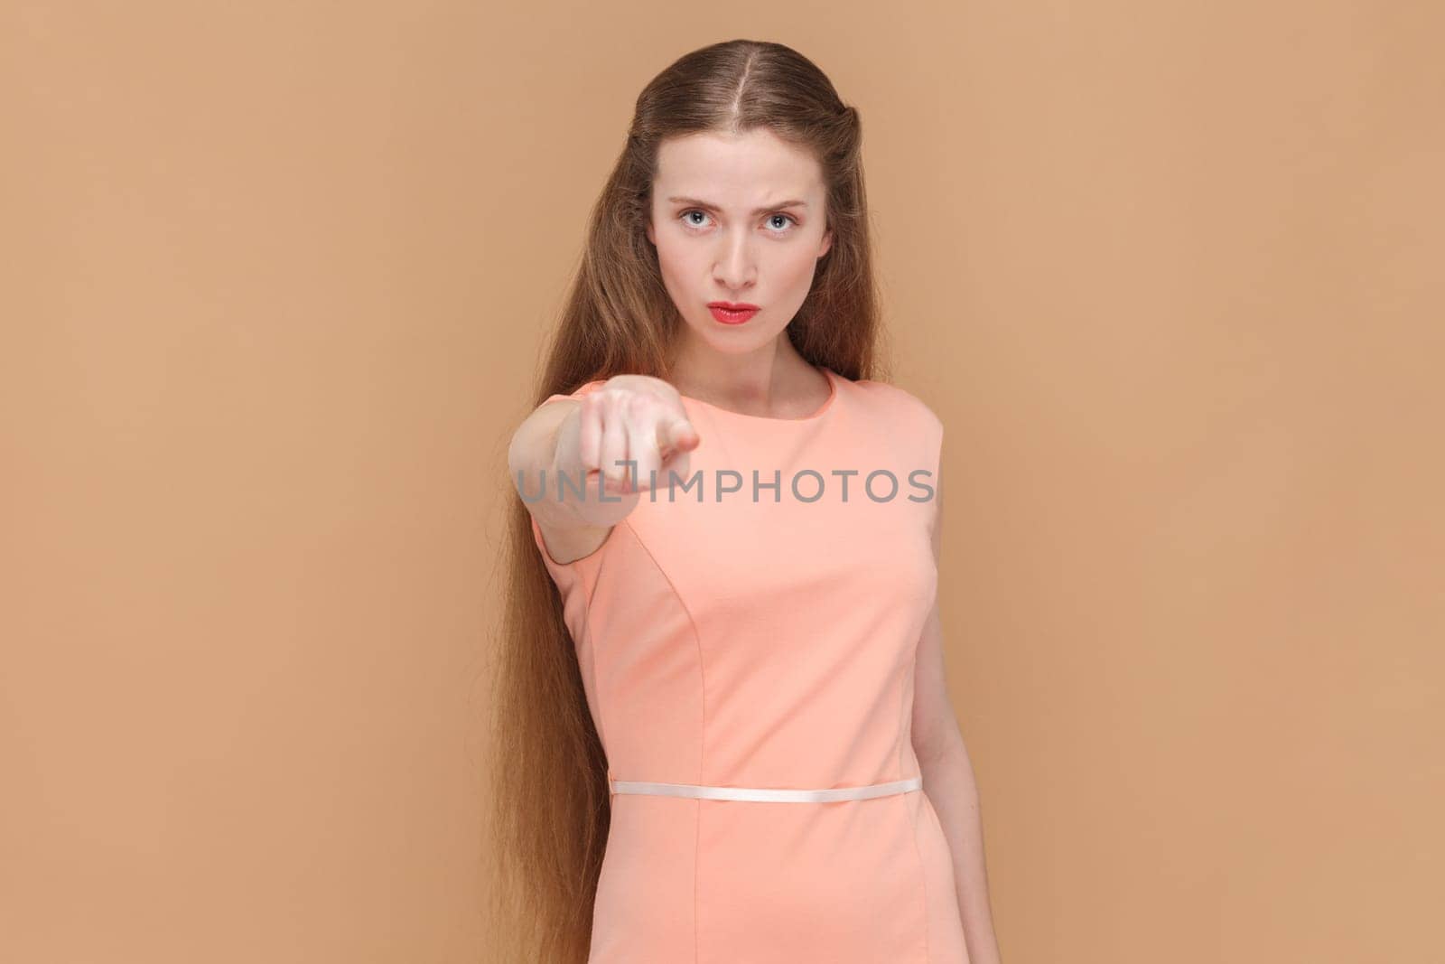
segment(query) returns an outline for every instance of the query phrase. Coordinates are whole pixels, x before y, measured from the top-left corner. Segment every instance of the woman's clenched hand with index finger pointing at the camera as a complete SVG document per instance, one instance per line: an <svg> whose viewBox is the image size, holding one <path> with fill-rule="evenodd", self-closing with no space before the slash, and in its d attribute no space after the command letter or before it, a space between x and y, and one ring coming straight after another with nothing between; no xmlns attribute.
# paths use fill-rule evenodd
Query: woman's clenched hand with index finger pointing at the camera
<svg viewBox="0 0 1445 964"><path fill-rule="evenodd" d="M686 478L688 452L701 439L669 383L647 374L618 374L578 402L558 426L552 467L569 483L585 481L581 502L568 493L581 522L616 525L653 487L653 473L657 490L672 486L673 473ZM598 478L608 502L597 497ZM549 489L555 491L555 486Z"/></svg>

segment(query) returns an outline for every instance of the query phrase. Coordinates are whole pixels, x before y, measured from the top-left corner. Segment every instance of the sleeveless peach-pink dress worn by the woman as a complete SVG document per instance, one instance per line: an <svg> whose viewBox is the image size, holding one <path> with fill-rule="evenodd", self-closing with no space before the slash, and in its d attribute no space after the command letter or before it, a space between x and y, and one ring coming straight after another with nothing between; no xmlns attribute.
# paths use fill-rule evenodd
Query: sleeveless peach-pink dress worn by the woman
<svg viewBox="0 0 1445 964"><path fill-rule="evenodd" d="M533 520L613 780L818 789L920 775L913 666L938 587L942 423L903 389L824 373L828 402L799 419L685 397L694 486L642 493L591 555L558 564ZM925 789L614 792L610 819L590 964L967 964Z"/></svg>

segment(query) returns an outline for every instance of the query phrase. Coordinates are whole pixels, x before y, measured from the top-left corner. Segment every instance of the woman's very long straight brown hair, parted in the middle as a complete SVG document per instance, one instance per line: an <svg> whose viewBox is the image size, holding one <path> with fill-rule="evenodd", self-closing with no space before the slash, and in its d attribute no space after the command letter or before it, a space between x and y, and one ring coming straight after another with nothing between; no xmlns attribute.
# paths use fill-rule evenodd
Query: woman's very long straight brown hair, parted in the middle
<svg viewBox="0 0 1445 964"><path fill-rule="evenodd" d="M727 40L675 61L643 88L627 143L592 208L533 408L614 374L668 377L686 324L644 228L659 145L767 129L822 168L832 244L788 325L798 353L847 379L877 377L879 306L858 111L780 43ZM584 964L611 815L607 757L588 713L556 587L509 481L509 559L490 700L490 939L507 964Z"/></svg>

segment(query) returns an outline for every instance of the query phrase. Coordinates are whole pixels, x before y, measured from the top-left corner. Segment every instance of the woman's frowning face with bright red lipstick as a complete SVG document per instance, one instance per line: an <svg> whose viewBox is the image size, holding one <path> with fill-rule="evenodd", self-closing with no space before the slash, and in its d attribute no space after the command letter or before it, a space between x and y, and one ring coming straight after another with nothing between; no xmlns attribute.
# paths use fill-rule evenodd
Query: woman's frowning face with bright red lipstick
<svg viewBox="0 0 1445 964"><path fill-rule="evenodd" d="M766 129L663 142L647 240L685 337L728 354L777 338L832 243L824 202L818 162ZM727 324L708 308L720 301L759 311Z"/></svg>

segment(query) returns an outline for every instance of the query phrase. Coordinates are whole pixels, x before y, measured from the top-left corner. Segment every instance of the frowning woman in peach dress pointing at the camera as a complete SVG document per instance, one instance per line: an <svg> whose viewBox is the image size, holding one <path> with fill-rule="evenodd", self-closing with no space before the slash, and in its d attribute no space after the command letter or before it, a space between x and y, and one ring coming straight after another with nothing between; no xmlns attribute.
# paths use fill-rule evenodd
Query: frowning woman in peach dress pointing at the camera
<svg viewBox="0 0 1445 964"><path fill-rule="evenodd" d="M876 337L857 111L782 45L672 64L509 451L503 960L998 960L942 423Z"/></svg>

